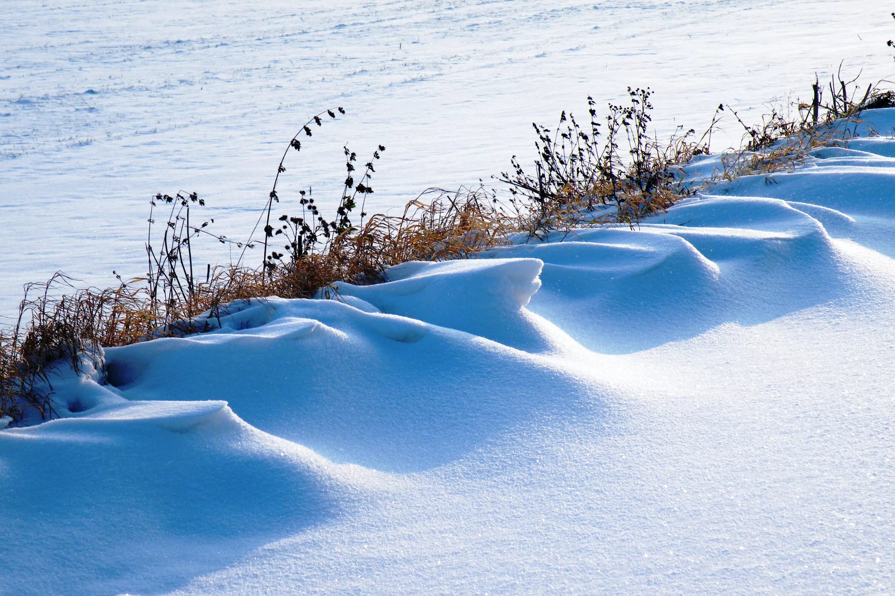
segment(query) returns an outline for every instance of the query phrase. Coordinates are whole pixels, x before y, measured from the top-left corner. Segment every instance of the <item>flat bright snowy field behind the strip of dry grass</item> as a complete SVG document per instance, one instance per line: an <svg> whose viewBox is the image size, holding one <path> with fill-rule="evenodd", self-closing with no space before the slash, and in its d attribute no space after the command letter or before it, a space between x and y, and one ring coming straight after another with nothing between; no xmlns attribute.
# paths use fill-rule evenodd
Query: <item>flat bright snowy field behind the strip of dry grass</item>
<svg viewBox="0 0 895 596"><path fill-rule="evenodd" d="M721 103L747 122L814 73L895 74L870 0L33 0L0 2L0 315L62 270L145 273L149 197L196 191L248 236L279 155L314 113L347 116L286 164L281 196L331 205L342 147L388 147L371 210L533 156L531 122L652 87L661 138ZM728 118L715 149L738 142ZM294 213L294 199L284 212ZM202 263L226 262L213 240ZM257 252L257 251L256 251ZM256 260L260 261L260 256Z"/></svg>

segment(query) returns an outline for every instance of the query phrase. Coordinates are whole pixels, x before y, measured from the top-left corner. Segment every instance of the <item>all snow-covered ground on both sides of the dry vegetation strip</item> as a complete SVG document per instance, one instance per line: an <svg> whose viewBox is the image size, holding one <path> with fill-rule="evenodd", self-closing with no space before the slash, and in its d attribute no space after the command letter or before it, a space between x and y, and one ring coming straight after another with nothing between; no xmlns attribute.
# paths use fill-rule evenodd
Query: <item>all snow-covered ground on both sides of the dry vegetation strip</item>
<svg viewBox="0 0 895 596"><path fill-rule="evenodd" d="M320 155L381 140L396 206L588 92L652 85L670 130L840 57L882 76L867 4L4 3L3 304L139 273L156 189L253 222L320 104L350 111ZM636 231L107 349L108 384L0 432L0 593L891 593L895 110L866 115L882 137Z"/></svg>

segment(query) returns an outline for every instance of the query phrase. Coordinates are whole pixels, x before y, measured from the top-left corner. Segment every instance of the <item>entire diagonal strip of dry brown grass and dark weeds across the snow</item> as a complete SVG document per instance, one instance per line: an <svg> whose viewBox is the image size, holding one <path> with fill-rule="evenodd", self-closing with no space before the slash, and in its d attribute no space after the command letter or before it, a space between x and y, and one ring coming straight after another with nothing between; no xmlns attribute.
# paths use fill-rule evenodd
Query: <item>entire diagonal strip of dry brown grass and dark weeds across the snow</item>
<svg viewBox="0 0 895 596"><path fill-rule="evenodd" d="M733 113L742 124L744 141L722 155L722 169L705 184L795 167L814 147L847 141L862 110L895 105L891 91L871 85L858 92L855 82L843 81L839 73L825 87L815 80L812 103L774 110L755 125L720 105L701 137L678 129L667 141L651 136L649 88L628 88L628 103L609 105L603 118L588 97L586 124L564 112L556 129L533 125L533 168L514 156L512 169L496 177L508 190L505 195L481 184L427 189L399 215L368 216L365 210L386 150L381 145L366 162L345 147L345 180L331 214L311 197L310 188L295 197L280 196L286 158L302 150L312 127L345 113L341 107L324 111L288 142L248 239L210 231L214 220L197 218L206 206L196 193L158 194L150 201L145 276L118 277L108 289L77 290L57 273L26 287L15 325L0 331L0 416L6 416L0 420L28 424L55 416L55 371L79 373L90 365L103 374L102 347L209 332L234 301L338 298L337 281L388 281L388 267L407 261L469 258L519 238L537 241L579 227L635 228L699 189L683 179L682 166L711 153L712 131L723 113ZM201 238L228 244L239 257L197 270L192 245ZM251 264L256 248L262 254Z"/></svg>

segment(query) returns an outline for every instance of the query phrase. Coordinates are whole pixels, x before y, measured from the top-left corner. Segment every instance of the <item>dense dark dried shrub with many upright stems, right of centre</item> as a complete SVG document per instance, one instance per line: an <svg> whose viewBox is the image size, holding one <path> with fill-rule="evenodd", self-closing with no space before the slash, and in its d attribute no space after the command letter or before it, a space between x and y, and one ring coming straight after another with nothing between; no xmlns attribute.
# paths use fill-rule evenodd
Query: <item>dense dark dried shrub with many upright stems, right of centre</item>
<svg viewBox="0 0 895 596"><path fill-rule="evenodd" d="M667 143L651 137L650 97L649 88L628 88L630 104L610 104L605 122L598 121L588 97L587 127L565 112L555 130L533 124L538 136L534 172L526 172L514 155L512 172L499 176L512 193L509 202L520 231L542 238L581 225L633 226L689 194L676 166L708 151L706 135L696 141L694 130L681 134L678 129Z"/></svg>

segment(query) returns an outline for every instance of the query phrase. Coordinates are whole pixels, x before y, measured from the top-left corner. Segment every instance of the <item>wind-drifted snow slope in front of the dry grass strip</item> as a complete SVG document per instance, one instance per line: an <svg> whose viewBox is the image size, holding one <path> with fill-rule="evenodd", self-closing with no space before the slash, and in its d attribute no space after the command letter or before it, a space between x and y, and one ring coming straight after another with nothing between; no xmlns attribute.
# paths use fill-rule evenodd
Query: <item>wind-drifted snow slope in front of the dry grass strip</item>
<svg viewBox="0 0 895 596"><path fill-rule="evenodd" d="M109 349L0 432L0 592L891 593L891 155Z"/></svg>

